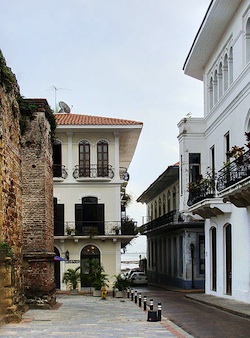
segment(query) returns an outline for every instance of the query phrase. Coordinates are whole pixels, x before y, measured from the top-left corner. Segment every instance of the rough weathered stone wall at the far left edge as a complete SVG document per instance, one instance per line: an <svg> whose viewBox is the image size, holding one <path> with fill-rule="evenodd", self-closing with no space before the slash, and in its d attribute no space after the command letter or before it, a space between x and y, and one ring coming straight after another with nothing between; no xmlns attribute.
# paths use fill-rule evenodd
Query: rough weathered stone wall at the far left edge
<svg viewBox="0 0 250 338"><path fill-rule="evenodd" d="M1 54L0 70L0 248L8 245L11 250L8 255L5 251L0 255L0 312L17 320L24 301L19 88Z"/></svg>

